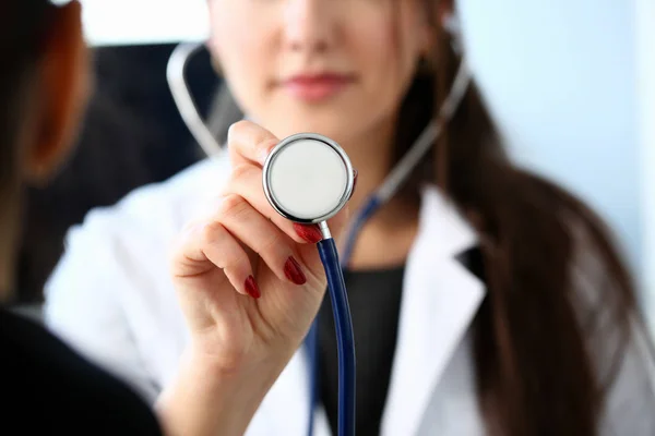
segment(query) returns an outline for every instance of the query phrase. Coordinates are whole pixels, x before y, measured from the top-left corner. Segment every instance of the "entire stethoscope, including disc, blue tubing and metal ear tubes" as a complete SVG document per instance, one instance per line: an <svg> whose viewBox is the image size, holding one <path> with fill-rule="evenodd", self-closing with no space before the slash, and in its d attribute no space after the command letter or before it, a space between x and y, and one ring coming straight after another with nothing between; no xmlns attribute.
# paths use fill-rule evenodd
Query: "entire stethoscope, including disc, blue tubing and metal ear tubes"
<svg viewBox="0 0 655 436"><path fill-rule="evenodd" d="M174 100L191 134L209 157L224 149L202 120L187 86L184 70L189 59L203 44L181 44L170 56L167 80ZM334 141L314 133L299 133L281 141L270 153L263 167L263 190L273 208L283 217L318 225L323 240L317 247L327 278L332 302L338 358L338 436L355 435L355 340L343 267L348 265L357 235L364 225L391 199L439 137L451 119L471 82L466 61L462 58L451 92L441 106L437 120L428 123L419 137L393 168L384 182L355 214L346 232L342 255L330 233L327 220L346 205L354 187L353 166L344 149ZM320 165L308 170L306 162ZM308 435L313 435L314 410L319 401L318 328L312 324L306 338L310 361L310 412Z"/></svg>

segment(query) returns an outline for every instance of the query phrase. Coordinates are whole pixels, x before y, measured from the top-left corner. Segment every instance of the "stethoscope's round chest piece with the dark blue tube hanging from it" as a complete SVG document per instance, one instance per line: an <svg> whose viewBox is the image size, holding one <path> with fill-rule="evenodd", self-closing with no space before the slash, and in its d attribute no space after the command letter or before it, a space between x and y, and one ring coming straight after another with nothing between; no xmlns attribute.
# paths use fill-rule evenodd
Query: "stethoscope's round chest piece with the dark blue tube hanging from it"
<svg viewBox="0 0 655 436"><path fill-rule="evenodd" d="M313 133L283 140L264 162L264 192L273 208L293 221L319 225L323 235L317 249L325 269L338 347L338 436L355 435L355 336L338 253L326 221L346 205L354 183L345 152Z"/></svg>

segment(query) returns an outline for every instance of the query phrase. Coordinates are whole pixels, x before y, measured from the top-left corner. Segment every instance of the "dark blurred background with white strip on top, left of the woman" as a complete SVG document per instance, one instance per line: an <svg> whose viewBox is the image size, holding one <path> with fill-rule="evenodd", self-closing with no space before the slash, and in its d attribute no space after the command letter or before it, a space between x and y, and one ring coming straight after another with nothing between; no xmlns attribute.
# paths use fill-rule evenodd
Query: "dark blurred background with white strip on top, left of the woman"
<svg viewBox="0 0 655 436"><path fill-rule="evenodd" d="M204 157L166 82L176 45L202 39L206 33L204 1L82 3L94 47L95 94L73 158L52 184L28 192L17 284L26 304L43 299L67 230L90 208L111 205L131 190L168 179ZM193 58L187 76L196 105L206 112L219 84L206 52Z"/></svg>

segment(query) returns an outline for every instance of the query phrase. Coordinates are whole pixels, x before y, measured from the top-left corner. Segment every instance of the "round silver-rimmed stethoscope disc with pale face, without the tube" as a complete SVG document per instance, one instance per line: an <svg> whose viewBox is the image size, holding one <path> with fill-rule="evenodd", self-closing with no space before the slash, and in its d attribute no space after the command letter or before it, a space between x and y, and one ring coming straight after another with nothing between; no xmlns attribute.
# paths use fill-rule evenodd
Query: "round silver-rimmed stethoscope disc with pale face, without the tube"
<svg viewBox="0 0 655 436"><path fill-rule="evenodd" d="M296 222L319 223L336 215L353 192L353 166L334 141L314 133L283 140L264 164L266 198Z"/></svg>

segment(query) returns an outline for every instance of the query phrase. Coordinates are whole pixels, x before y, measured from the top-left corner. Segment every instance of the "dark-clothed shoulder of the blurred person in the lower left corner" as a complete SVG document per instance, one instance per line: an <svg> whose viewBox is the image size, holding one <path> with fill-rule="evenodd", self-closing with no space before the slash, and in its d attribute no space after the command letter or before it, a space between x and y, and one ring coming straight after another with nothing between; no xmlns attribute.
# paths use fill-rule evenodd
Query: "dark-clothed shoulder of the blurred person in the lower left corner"
<svg viewBox="0 0 655 436"><path fill-rule="evenodd" d="M160 434L154 414L132 390L43 327L4 311L0 325L7 420L15 419L26 433L47 423L48 432L67 434Z"/></svg>

